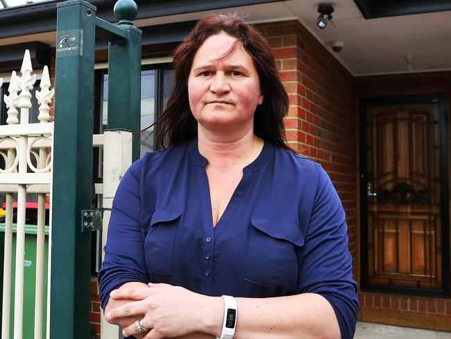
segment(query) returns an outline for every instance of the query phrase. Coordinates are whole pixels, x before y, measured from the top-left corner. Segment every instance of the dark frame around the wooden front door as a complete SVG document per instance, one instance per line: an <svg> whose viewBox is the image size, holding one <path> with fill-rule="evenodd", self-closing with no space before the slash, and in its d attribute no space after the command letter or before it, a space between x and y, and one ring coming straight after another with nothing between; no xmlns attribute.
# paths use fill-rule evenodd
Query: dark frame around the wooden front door
<svg viewBox="0 0 451 339"><path fill-rule="evenodd" d="M442 272L443 288L440 290L423 290L418 288L380 286L368 283L368 210L366 188L366 108L369 105L384 104L439 104L440 133L440 176L441 190L441 224L442 224ZM409 94L382 97L361 97L359 99L359 200L360 200L360 272L361 290L368 292L388 292L401 295L422 295L430 297L450 297L450 199L448 173L448 100L446 94Z"/></svg>

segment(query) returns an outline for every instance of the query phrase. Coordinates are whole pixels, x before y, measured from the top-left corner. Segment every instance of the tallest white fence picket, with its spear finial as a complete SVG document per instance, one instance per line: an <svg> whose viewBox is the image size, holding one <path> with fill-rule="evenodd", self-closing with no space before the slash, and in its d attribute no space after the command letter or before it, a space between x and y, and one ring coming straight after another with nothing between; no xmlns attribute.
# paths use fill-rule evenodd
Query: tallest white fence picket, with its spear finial
<svg viewBox="0 0 451 339"><path fill-rule="evenodd" d="M31 90L36 81L36 74L31 76L30 52L25 51L24 61L20 69L19 108L20 123L28 124L28 115L31 108ZM28 148L28 135L19 137L19 174L26 174L26 151ZM25 256L25 213L26 213L26 185L19 185L17 189L17 233L16 233L16 271L14 294L14 339L22 339L24 322L24 256Z"/></svg>

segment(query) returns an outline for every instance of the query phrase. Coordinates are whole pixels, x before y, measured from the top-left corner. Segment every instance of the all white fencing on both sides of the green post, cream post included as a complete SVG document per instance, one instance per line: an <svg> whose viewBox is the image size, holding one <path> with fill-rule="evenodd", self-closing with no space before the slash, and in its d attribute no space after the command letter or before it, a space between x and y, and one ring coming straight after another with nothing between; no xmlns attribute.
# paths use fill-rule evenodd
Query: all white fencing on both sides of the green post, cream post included
<svg viewBox="0 0 451 339"><path fill-rule="evenodd" d="M44 315L44 303L50 305L51 276L47 278L47 299L44 300L44 267L45 267L45 213L46 201L49 200L49 244L51 244L51 183L53 149L53 122L51 121L50 104L54 90L49 70L44 67L40 81L40 91L35 97L39 104L39 123L29 123L29 111L32 107L31 92L36 81L33 74L31 58L28 50L25 52L21 76L12 72L8 86L8 95L4 101L8 107L6 125L0 126L0 155L4 159L5 168L0 168L0 192L6 193L6 215L4 231L4 260L3 260L3 306L1 314L1 339L9 339L13 333L14 339L24 338L24 251L26 227L26 195L37 194L37 235L36 235L36 276L35 276L35 310L34 310L34 339L42 339L42 324L46 323L46 337L49 338L49 314ZM0 78L0 88L3 79ZM20 118L20 121L19 121ZM93 135L93 147L103 148L103 184L95 185L95 193L103 195L103 235L102 245L105 245L108 221L112 199L119 185L119 181L132 162L132 133L128 131L105 131L100 135ZM33 158L32 158L33 156ZM17 222L15 236L15 276L12 276L12 247L13 247L13 210L17 194ZM1 206L0 206L1 207ZM60 225L62 226L62 225ZM0 248L1 251L1 248ZM49 261L47 272L51 272ZM102 256L103 258L103 256ZM70 270L70 267L68 267ZM1 270L0 270L1 272ZM14 313L12 315L11 295L14 281ZM87 310L89 312L89 310ZM11 317L14 328L10 329ZM109 325L102 316L102 338L119 338L117 326ZM30 324L28 324L30 325ZM28 339L28 338L26 338Z"/></svg>

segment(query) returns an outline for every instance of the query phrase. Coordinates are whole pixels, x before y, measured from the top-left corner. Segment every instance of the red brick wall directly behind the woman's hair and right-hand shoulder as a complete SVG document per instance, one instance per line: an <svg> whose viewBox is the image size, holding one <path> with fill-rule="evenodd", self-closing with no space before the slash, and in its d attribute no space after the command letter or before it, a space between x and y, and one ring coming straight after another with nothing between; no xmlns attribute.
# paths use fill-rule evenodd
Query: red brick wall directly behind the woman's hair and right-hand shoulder
<svg viewBox="0 0 451 339"><path fill-rule="evenodd" d="M356 260L357 124L353 76L298 22L260 25L289 93L284 123L290 146L330 175L346 211ZM355 261L356 262L356 261ZM358 278L358 265L355 265Z"/></svg>

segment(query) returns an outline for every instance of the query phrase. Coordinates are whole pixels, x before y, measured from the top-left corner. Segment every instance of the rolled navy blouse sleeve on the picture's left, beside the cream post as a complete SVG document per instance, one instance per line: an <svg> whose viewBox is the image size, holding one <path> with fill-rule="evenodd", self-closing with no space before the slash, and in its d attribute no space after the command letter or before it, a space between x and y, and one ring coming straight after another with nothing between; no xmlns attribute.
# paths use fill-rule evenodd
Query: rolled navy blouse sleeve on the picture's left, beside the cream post
<svg viewBox="0 0 451 339"><path fill-rule="evenodd" d="M99 272L101 306L105 309L110 292L124 283L147 283L144 240L140 216L139 164L133 163L119 184L112 204L105 260Z"/></svg>

